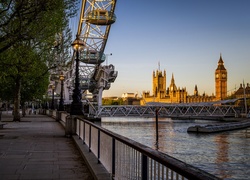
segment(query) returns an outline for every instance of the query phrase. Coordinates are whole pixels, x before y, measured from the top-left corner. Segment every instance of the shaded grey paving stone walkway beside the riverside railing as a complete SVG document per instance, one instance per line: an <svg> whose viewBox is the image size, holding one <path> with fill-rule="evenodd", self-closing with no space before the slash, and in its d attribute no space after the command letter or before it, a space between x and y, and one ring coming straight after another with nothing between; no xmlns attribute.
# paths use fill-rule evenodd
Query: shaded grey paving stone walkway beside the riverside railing
<svg viewBox="0 0 250 180"><path fill-rule="evenodd" d="M53 118L27 115L11 122L2 114L0 179L94 179L71 138Z"/></svg>

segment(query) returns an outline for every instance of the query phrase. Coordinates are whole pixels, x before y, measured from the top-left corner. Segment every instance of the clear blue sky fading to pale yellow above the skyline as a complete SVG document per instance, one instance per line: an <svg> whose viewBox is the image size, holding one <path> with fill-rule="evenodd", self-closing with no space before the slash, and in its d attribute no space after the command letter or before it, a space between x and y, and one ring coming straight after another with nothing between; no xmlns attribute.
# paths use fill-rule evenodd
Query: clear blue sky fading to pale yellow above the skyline
<svg viewBox="0 0 250 180"><path fill-rule="evenodd" d="M103 97L150 91L152 73L166 70L167 87L215 93L220 58L228 93L250 83L249 0L117 0L105 53L118 77Z"/></svg>

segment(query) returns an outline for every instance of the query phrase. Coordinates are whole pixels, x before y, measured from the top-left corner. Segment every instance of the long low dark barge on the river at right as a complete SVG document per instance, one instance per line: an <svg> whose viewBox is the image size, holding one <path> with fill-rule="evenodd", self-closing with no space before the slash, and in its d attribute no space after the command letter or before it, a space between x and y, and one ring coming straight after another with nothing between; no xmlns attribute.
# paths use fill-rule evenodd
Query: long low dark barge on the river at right
<svg viewBox="0 0 250 180"><path fill-rule="evenodd" d="M213 133L221 131L231 131L236 129L244 129L250 127L250 120L240 121L240 122L230 122L223 124L210 124L210 125L195 125L190 126L187 129L187 132L196 132L196 133Z"/></svg>

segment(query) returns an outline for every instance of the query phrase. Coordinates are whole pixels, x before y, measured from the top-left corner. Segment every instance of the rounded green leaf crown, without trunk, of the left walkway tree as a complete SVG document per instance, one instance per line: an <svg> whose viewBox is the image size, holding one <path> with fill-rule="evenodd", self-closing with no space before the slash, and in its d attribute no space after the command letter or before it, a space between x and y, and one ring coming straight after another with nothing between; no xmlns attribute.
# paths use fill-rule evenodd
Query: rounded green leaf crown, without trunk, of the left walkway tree
<svg viewBox="0 0 250 180"><path fill-rule="evenodd" d="M0 54L2 60L0 71L4 75L8 75L4 76L1 73L3 76L0 85L2 100L14 98L15 79L17 78L21 78L22 99L33 100L46 92L49 83L48 67L42 57L29 48L28 46L17 46Z"/></svg>

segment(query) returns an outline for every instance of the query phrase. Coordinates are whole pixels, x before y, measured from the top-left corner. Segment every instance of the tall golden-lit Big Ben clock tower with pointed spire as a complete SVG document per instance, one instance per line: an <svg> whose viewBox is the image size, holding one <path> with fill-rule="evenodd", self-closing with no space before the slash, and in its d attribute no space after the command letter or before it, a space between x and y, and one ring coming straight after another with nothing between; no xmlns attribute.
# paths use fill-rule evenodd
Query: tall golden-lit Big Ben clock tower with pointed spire
<svg viewBox="0 0 250 180"><path fill-rule="evenodd" d="M221 55L215 70L215 95L216 100L223 100L227 97L227 70Z"/></svg>

